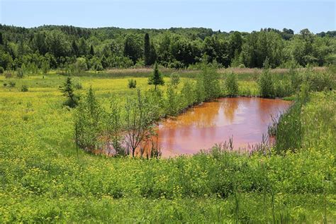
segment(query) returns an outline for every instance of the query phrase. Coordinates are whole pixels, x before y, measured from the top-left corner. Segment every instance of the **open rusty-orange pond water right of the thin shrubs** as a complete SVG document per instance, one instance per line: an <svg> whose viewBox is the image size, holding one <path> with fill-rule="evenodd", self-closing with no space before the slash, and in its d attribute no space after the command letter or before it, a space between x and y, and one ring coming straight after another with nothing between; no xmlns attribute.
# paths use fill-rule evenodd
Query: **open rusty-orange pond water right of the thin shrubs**
<svg viewBox="0 0 336 224"><path fill-rule="evenodd" d="M189 109L159 123L158 143L164 157L193 154L233 137L235 149L254 145L267 134L271 116L279 116L290 101L261 98L223 98Z"/></svg>

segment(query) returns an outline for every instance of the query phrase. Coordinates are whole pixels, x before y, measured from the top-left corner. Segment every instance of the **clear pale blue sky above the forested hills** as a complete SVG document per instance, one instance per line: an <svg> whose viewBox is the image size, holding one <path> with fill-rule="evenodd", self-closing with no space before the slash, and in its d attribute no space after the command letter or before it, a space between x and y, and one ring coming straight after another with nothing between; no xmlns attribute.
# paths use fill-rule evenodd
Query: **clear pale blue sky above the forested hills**
<svg viewBox="0 0 336 224"><path fill-rule="evenodd" d="M335 1L135 1L0 0L0 23L35 27L43 24L96 28L206 27L252 31L260 28L335 28Z"/></svg>

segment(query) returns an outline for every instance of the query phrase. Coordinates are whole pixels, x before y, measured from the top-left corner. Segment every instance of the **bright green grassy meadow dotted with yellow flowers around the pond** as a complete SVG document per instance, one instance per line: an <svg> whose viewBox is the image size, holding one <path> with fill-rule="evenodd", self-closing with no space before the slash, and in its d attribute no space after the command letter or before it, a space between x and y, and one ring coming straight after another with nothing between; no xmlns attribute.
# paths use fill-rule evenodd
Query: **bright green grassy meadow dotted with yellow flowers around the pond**
<svg viewBox="0 0 336 224"><path fill-rule="evenodd" d="M92 86L108 107L112 96L135 94L127 86L131 77L140 89L152 88L147 73L117 73L74 77L82 84L76 91ZM259 95L258 74L238 77L240 95ZM58 89L63 82L56 73L0 76L1 223L336 222L335 91L311 92L300 109L302 149L241 155L214 147L147 160L77 155L73 111L62 107Z"/></svg>

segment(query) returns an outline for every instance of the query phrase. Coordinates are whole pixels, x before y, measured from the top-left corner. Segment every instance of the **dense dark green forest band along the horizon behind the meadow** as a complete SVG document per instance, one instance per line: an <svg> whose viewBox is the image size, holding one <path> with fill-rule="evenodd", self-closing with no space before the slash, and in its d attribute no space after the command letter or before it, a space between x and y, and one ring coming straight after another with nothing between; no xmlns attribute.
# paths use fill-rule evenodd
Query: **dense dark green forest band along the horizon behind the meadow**
<svg viewBox="0 0 336 224"><path fill-rule="evenodd" d="M193 68L306 67L335 64L336 31L264 28L252 33L209 28L123 29L0 24L0 71L38 69L103 70L159 65ZM19 69L20 70L20 69Z"/></svg>

